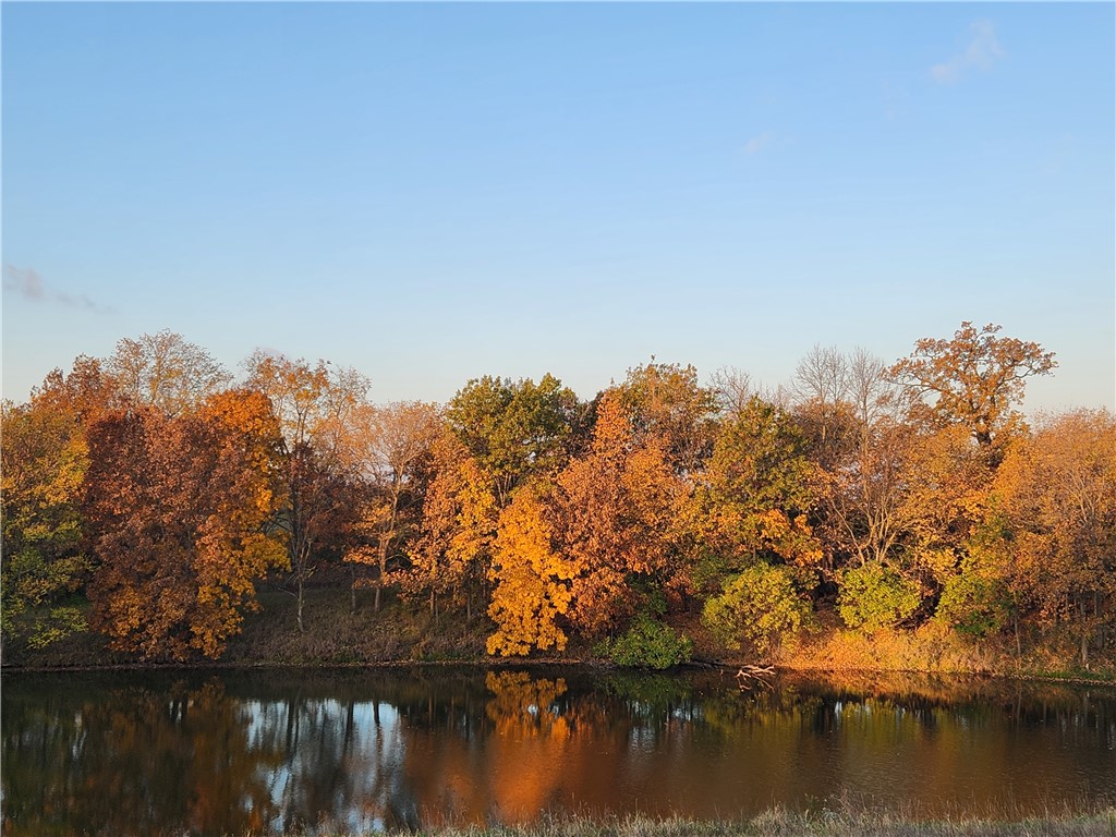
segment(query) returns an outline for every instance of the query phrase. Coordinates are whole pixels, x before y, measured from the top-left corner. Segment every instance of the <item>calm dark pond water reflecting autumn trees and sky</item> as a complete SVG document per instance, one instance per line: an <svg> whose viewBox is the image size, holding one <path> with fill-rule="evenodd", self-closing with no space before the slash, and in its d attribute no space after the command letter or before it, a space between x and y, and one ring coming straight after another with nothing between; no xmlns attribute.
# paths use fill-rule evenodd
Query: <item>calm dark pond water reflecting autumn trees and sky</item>
<svg viewBox="0 0 1116 837"><path fill-rule="evenodd" d="M7 674L4 835L282 835L1116 800L1116 691L424 668Z"/></svg>

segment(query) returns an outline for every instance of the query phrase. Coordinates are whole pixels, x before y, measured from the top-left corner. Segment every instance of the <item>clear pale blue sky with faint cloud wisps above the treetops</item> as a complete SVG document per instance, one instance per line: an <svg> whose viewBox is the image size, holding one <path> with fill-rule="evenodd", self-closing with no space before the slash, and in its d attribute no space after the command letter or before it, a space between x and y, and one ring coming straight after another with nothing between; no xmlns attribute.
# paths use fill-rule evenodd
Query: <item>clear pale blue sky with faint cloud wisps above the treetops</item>
<svg viewBox="0 0 1116 837"><path fill-rule="evenodd" d="M384 402L972 320L1113 408L1114 10L4 2L3 394L162 328Z"/></svg>

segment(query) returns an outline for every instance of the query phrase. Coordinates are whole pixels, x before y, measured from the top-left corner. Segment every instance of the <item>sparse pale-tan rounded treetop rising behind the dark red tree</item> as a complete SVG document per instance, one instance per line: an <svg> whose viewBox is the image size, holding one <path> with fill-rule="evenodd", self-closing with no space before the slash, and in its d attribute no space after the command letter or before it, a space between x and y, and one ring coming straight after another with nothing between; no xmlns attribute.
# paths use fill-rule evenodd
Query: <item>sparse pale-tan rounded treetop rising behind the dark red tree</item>
<svg viewBox="0 0 1116 837"><path fill-rule="evenodd" d="M123 338L105 369L122 396L170 415L201 404L232 379L209 352L167 329Z"/></svg>

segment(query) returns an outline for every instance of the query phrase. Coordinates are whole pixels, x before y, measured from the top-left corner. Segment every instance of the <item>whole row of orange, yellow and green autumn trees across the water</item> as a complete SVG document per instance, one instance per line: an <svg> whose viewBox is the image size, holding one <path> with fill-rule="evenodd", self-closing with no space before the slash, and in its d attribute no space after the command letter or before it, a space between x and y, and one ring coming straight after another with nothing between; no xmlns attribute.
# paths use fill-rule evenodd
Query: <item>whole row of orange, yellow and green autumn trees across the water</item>
<svg viewBox="0 0 1116 837"><path fill-rule="evenodd" d="M887 365L815 346L793 379L628 369L591 401L547 374L444 405L257 352L235 378L161 331L79 356L2 411L7 642L75 631L144 658L218 657L262 579L316 571L489 620L493 655L577 638L668 665L700 615L767 657L819 624L1038 626L1081 665L1114 639L1116 422L1018 412L1054 354L963 323Z"/></svg>

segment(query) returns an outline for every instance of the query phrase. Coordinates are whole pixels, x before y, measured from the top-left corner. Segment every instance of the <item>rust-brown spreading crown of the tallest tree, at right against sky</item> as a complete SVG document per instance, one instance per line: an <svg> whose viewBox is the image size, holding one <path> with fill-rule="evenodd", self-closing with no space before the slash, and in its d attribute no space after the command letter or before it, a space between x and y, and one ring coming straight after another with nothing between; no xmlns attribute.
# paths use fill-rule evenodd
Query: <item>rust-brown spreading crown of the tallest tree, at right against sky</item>
<svg viewBox="0 0 1116 837"><path fill-rule="evenodd" d="M962 323L952 340L923 338L914 352L888 371L916 398L929 398L932 415L966 427L985 450L1017 420L1027 378L1049 375L1052 352L1037 343L998 337L1001 327L978 330Z"/></svg>

